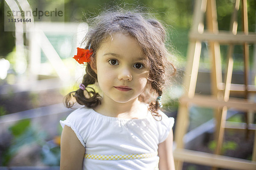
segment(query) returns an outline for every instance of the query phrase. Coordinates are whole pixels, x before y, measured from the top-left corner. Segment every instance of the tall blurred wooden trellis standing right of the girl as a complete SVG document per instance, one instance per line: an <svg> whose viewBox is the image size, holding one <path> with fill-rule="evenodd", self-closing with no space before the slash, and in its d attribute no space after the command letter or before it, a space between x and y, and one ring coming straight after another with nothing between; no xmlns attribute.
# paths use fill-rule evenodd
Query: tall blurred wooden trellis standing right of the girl
<svg viewBox="0 0 256 170"><path fill-rule="evenodd" d="M255 86L248 85L248 43L256 44L256 34L254 32L248 32L247 0L241 0L243 31L237 31L237 12L239 10L239 5L240 0L236 0L231 18L230 31L219 31L215 0L196 0L195 2L193 25L189 34L190 41L187 54L186 74L183 82L186 91L180 99L175 128L176 148L174 150L174 158L176 170L182 169L183 161L212 167L256 170L256 125L250 124L250 126L247 125L246 127L232 125L231 127L228 122L226 123L228 108L235 108L236 110L241 111L256 111L256 103L247 99L249 93L256 93ZM204 29L204 14L206 14L207 30ZM209 55L212 59L211 96L195 95L202 41L208 42ZM227 70L224 82L222 82L221 73L220 43L229 45ZM244 85L231 83L233 72L232 54L235 44L242 44L244 49ZM243 92L244 99L231 98L230 92ZM184 149L183 136L189 125L189 106L191 104L215 108L215 140L217 147L214 154ZM251 161L219 155L225 128L255 130L253 156Z"/></svg>

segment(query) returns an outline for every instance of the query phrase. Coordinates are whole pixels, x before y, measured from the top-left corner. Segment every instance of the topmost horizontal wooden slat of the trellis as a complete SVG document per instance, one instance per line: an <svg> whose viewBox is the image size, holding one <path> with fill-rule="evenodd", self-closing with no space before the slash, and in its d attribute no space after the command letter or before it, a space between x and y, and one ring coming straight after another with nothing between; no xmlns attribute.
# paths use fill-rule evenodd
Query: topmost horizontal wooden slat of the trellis
<svg viewBox="0 0 256 170"><path fill-rule="evenodd" d="M190 40L201 40L201 41L216 41L223 44L243 44L256 43L256 33L250 32L248 35L243 32L238 32L236 35L232 34L230 31L219 31L218 33L211 33L209 31L204 31L203 34L198 32L189 33Z"/></svg>

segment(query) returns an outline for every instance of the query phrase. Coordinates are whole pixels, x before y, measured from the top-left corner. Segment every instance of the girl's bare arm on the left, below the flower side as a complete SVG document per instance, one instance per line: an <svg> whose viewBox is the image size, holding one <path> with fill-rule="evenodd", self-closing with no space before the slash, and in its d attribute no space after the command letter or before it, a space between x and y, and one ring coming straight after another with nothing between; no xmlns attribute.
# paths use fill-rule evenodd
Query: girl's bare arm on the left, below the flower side
<svg viewBox="0 0 256 170"><path fill-rule="evenodd" d="M61 170L81 170L85 147L71 127L64 126L61 133Z"/></svg>

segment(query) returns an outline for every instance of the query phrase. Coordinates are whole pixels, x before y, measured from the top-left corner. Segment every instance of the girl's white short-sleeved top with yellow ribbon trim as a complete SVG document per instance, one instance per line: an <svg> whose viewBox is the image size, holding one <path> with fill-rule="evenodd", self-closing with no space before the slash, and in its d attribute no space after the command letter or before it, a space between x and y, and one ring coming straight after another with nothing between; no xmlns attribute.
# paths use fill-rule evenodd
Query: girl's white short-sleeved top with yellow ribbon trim
<svg viewBox="0 0 256 170"><path fill-rule="evenodd" d="M60 121L73 129L85 147L83 170L157 170L158 144L174 124L163 112L157 121L104 116L91 108L79 108Z"/></svg>

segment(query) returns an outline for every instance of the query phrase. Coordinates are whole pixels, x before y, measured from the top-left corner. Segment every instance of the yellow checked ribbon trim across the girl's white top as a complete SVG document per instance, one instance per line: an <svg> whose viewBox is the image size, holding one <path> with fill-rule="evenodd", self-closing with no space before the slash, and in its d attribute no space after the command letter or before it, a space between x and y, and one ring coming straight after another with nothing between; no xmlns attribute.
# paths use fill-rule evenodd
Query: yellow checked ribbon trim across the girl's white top
<svg viewBox="0 0 256 170"><path fill-rule="evenodd" d="M130 155L93 155L85 154L86 159L97 159L97 160L125 160L125 159L143 159L157 156L157 152L154 153L143 153L143 154L130 154Z"/></svg>

